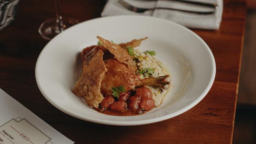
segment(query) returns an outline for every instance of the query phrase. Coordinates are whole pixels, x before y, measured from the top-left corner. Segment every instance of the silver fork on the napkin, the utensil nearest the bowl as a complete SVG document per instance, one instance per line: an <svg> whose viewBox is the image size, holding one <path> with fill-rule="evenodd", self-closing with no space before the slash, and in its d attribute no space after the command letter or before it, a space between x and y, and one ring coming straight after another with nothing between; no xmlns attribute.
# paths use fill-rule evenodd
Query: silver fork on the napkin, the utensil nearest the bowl
<svg viewBox="0 0 256 144"><path fill-rule="evenodd" d="M169 9L169 10L174 10L174 11L182 11L182 12L186 12L186 13L195 13L195 14L199 14L199 15L211 15L211 14L215 13L215 10L213 10L213 11L189 11L189 10L175 9L175 8L169 8L169 7L154 7L154 8L147 9L147 8L132 6L132 5L128 4L127 2L124 2L123 0L118 0L118 2L120 4L122 4L122 6L128 8L131 11L134 11L136 13L143 13L145 11L152 11L154 9ZM217 7L215 7L215 9L216 8Z"/></svg>

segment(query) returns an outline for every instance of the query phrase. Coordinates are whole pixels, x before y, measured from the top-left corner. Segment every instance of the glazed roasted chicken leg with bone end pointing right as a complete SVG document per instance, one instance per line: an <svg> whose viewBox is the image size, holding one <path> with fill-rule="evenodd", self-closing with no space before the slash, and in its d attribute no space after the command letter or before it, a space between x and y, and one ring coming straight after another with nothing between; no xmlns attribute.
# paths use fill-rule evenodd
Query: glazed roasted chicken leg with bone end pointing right
<svg viewBox="0 0 256 144"><path fill-rule="evenodd" d="M113 93L111 89L120 85L123 85L126 91L144 85L159 86L163 89L170 87L171 76L169 75L140 79L139 76L127 68L125 64L120 63L116 59L108 59L105 60L104 63L108 71L101 82L100 91L103 95L111 95Z"/></svg>

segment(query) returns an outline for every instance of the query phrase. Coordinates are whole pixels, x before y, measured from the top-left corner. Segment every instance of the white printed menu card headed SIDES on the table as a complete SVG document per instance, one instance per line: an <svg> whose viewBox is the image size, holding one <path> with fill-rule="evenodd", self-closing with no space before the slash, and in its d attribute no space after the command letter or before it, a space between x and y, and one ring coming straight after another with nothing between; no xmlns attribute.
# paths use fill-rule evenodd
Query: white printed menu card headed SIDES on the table
<svg viewBox="0 0 256 144"><path fill-rule="evenodd" d="M0 144L74 144L0 89Z"/></svg>

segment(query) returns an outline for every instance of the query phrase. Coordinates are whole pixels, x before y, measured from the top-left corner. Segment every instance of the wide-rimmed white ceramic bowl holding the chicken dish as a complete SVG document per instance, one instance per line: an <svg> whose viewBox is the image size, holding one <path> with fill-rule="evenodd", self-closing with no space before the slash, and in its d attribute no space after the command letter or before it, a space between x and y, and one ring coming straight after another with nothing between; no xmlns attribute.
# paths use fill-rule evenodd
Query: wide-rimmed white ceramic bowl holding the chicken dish
<svg viewBox="0 0 256 144"><path fill-rule="evenodd" d="M81 74L80 52L96 44L96 35L115 43L148 37L139 49L155 50L169 70L172 85L160 107L137 116L98 113L71 92ZM82 22L60 33L42 50L35 77L45 98L76 118L109 125L159 122L186 112L208 93L215 78L215 60L207 44L179 24L145 16L115 16Z"/></svg>

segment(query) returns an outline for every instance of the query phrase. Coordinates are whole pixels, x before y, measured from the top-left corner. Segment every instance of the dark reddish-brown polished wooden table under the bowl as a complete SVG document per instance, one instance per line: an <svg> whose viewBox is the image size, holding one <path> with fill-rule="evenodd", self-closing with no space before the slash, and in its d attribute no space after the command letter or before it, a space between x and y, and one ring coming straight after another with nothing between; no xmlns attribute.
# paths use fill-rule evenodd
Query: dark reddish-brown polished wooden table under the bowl
<svg viewBox="0 0 256 144"><path fill-rule="evenodd" d="M103 0L62 0L63 17L80 22L100 17ZM51 105L35 81L35 63L48 41L38 27L54 17L52 0L21 0L15 21L0 31L0 88L76 144L232 142L243 46L246 4L225 0L217 31L193 30L210 46L217 72L213 87L184 114L143 126L106 126L69 116Z"/></svg>

